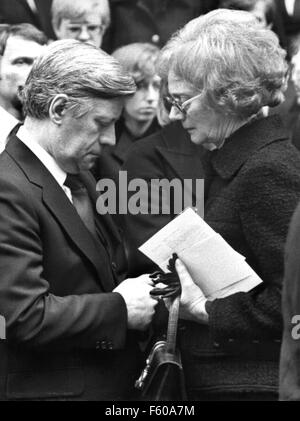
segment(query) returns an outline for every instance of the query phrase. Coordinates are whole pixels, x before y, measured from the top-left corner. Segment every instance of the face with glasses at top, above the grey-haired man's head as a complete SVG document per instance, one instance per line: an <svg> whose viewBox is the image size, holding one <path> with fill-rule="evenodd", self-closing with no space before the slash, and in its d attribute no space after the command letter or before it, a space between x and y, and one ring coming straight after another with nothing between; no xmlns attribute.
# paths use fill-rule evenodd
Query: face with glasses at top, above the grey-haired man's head
<svg viewBox="0 0 300 421"><path fill-rule="evenodd" d="M93 10L80 18L62 19L59 27L55 28L58 39L75 39L95 47L101 47L105 30L101 16Z"/></svg>

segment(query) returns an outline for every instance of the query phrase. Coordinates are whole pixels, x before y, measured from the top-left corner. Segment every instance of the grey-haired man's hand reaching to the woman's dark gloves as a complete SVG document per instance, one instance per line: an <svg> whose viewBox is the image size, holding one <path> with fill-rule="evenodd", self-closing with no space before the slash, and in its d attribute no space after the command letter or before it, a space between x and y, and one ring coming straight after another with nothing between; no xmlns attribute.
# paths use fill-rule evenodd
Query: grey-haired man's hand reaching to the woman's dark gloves
<svg viewBox="0 0 300 421"><path fill-rule="evenodd" d="M126 279L113 292L122 295L127 306L128 329L146 330L155 313L157 300L150 296L153 281L149 275Z"/></svg>

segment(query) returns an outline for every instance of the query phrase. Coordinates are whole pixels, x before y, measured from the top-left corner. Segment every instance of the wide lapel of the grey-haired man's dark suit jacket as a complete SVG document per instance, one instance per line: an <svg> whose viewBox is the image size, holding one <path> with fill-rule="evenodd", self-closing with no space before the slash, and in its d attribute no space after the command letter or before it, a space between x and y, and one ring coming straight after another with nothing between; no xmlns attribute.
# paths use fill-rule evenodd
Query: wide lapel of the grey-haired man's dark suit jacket
<svg viewBox="0 0 300 421"><path fill-rule="evenodd" d="M99 253L93 237L57 181L16 136L10 138L6 150L22 168L29 181L41 187L43 203L73 243L93 265L103 288L110 291L112 275L110 268L107 268L107 260ZM109 271L109 276L107 271Z"/></svg>

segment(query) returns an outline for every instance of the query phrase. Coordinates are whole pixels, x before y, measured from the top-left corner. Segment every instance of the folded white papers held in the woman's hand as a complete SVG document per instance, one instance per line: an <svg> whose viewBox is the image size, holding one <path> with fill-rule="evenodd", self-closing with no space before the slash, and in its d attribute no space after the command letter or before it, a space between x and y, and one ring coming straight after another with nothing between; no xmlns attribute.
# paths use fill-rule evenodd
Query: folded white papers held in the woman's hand
<svg viewBox="0 0 300 421"><path fill-rule="evenodd" d="M237 253L192 209L156 233L139 250L162 270L173 253L183 261L194 282L209 299L247 292L262 280Z"/></svg>

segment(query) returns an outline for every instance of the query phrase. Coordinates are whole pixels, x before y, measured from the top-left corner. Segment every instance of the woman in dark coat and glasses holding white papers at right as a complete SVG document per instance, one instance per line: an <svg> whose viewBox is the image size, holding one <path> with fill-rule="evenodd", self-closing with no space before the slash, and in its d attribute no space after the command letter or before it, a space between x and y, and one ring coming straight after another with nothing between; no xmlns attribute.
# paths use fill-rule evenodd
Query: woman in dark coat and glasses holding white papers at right
<svg viewBox="0 0 300 421"><path fill-rule="evenodd" d="M300 155L280 119L261 113L283 99L287 65L276 35L246 22L247 12L223 12L183 28L160 67L168 76L170 118L208 151L205 220L263 283L208 302L177 263L183 364L190 399L272 400L284 243L300 199Z"/></svg>

